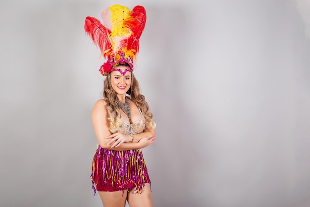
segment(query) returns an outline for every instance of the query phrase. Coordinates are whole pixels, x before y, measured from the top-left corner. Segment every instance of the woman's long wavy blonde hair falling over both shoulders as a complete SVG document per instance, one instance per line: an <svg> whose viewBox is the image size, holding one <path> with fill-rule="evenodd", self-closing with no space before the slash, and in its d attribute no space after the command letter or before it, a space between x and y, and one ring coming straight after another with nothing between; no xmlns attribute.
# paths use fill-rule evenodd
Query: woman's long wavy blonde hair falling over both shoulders
<svg viewBox="0 0 310 207"><path fill-rule="evenodd" d="M140 94L140 87L135 75L131 73L132 78L132 94L131 100L137 104L146 121L145 130L153 130L156 125L153 122L153 114L150 112L149 104L145 101L145 96ZM130 89L127 91L130 95ZM103 99L106 101L106 109L108 113L109 130L111 133L117 133L117 128L122 125L121 113L117 104L118 98L116 92L110 87L108 77L103 83Z"/></svg>

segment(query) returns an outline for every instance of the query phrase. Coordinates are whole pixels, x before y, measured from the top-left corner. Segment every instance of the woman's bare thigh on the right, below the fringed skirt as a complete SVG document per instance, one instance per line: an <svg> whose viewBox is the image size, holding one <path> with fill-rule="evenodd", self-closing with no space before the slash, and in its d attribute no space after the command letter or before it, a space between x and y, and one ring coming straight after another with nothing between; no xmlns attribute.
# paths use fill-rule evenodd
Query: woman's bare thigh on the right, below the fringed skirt
<svg viewBox="0 0 310 207"><path fill-rule="evenodd" d="M132 191L129 191L127 201L130 207L153 207L150 183L145 184L140 194L132 194Z"/></svg>

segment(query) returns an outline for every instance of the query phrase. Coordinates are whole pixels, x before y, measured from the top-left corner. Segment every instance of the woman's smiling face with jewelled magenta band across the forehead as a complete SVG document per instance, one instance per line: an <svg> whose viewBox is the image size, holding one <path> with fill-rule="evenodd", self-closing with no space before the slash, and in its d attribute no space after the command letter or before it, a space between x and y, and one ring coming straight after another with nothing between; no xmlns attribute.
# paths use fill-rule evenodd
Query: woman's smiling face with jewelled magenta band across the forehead
<svg viewBox="0 0 310 207"><path fill-rule="evenodd" d="M117 69L120 69L119 71ZM127 71L126 71L127 69ZM126 96L126 92L130 89L131 72L128 71L129 66L118 65L115 70L111 71L111 86L117 93L118 99L122 100Z"/></svg>

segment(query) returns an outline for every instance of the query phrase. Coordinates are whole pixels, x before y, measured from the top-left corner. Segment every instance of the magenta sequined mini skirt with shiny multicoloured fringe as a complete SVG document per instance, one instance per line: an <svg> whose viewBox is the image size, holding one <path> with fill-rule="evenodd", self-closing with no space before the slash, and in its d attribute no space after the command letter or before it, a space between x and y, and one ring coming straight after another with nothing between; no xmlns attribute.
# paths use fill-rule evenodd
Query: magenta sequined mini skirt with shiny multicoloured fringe
<svg viewBox="0 0 310 207"><path fill-rule="evenodd" d="M141 193L150 183L148 169L140 149L114 151L99 146L93 159L91 180L97 191ZM94 187L96 185L96 189Z"/></svg>

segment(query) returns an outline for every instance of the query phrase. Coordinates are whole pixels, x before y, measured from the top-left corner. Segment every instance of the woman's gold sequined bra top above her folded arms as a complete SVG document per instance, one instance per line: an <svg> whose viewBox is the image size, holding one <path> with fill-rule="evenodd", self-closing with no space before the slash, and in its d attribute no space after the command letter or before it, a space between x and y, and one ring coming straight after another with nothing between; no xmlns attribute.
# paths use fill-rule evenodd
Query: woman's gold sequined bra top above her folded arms
<svg viewBox="0 0 310 207"><path fill-rule="evenodd" d="M141 117L137 121L133 122L132 124L130 124L129 120L122 119L123 124L117 129L117 131L125 135L137 135L137 134L142 133L145 128L145 118L141 111L140 111L140 114L141 114Z"/></svg>

